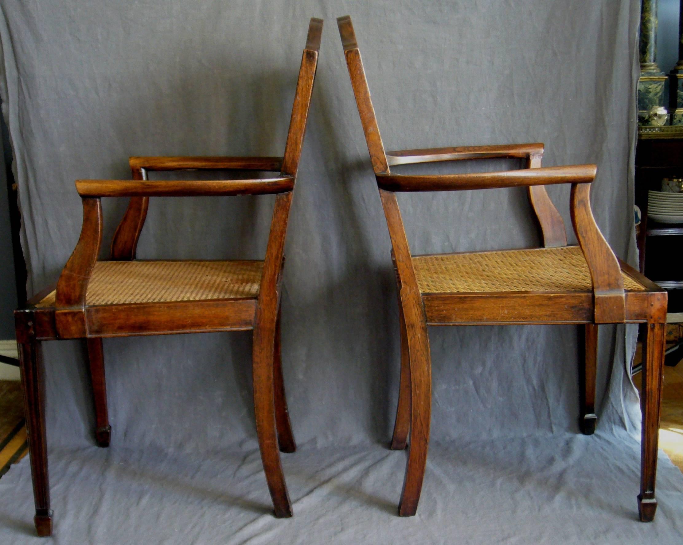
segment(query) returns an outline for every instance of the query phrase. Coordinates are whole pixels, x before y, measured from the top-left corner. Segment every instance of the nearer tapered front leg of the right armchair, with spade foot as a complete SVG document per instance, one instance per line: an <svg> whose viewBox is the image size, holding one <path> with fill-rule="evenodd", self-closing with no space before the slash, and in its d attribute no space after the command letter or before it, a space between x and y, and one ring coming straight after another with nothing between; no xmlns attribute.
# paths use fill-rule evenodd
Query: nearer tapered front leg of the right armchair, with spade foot
<svg viewBox="0 0 683 545"><path fill-rule="evenodd" d="M641 493L638 496L640 520L654 519L657 500L654 482L657 473L657 446L665 351L665 324L648 323L643 346L643 437L641 440Z"/></svg>

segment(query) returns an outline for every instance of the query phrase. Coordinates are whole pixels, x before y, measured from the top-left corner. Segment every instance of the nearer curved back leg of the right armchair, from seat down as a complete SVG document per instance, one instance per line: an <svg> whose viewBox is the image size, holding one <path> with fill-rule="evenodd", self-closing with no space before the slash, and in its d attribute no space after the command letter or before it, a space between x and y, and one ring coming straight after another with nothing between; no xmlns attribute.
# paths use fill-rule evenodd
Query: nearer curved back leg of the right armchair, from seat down
<svg viewBox="0 0 683 545"><path fill-rule="evenodd" d="M403 293L401 296L404 297ZM427 324L419 301L406 296L403 311L410 353L410 442L398 514L413 516L417 512L427 466L432 416L432 362Z"/></svg>

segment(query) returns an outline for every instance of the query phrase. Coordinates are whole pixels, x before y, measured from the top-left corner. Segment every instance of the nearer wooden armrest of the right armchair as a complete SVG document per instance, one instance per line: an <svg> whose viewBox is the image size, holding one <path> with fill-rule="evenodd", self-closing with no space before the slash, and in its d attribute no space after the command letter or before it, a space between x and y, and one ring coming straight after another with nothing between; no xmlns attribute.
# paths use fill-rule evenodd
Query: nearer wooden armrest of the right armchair
<svg viewBox="0 0 683 545"><path fill-rule="evenodd" d="M387 191L462 191L472 189L547 186L551 183L586 183L593 181L594 164L526 168L495 173L399 175L377 174L377 185Z"/></svg>

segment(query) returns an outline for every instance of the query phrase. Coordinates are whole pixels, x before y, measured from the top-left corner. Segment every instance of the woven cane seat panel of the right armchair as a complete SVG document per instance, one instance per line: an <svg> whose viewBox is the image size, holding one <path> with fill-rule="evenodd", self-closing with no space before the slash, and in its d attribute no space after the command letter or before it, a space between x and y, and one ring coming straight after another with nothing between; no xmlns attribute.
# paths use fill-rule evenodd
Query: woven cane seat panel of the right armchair
<svg viewBox="0 0 683 545"><path fill-rule="evenodd" d="M591 291L591 274L579 246L413 257L421 293ZM624 289L644 286L626 276Z"/></svg>

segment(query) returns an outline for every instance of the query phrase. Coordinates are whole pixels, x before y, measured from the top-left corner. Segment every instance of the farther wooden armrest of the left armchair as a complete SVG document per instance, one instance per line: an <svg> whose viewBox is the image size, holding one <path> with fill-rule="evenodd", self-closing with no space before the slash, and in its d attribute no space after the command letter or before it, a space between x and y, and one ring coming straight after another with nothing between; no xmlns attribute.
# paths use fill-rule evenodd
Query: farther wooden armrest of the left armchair
<svg viewBox="0 0 683 545"><path fill-rule="evenodd" d="M130 168L145 171L279 172L281 157L131 157Z"/></svg>

